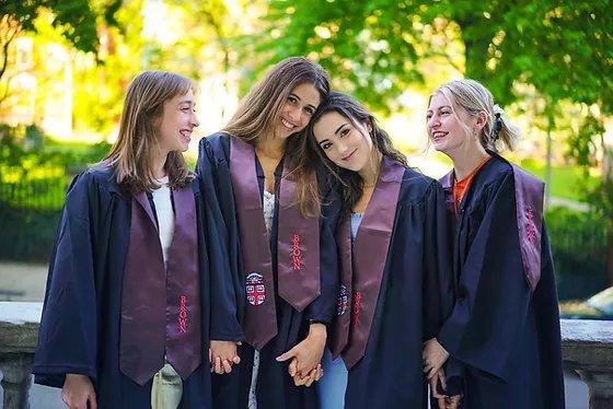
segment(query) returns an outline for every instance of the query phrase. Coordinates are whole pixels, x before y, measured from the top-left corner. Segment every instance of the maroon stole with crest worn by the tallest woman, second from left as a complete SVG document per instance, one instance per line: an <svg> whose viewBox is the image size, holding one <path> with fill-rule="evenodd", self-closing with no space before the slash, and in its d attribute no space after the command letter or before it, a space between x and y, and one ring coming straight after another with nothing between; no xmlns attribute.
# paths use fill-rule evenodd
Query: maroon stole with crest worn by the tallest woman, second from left
<svg viewBox="0 0 613 409"><path fill-rule="evenodd" d="M275 283L269 235L266 231L255 150L230 137L230 176L236 201L245 277L246 341L262 349L277 335ZM301 312L320 295L320 221L300 213L294 183L284 170L279 187L278 285L279 296Z"/></svg>

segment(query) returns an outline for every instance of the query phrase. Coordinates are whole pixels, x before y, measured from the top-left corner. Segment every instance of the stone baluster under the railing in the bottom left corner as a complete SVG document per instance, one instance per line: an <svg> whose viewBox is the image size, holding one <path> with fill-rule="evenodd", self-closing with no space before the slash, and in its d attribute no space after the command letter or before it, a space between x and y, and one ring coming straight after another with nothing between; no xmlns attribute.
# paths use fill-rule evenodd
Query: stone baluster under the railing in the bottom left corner
<svg viewBox="0 0 613 409"><path fill-rule="evenodd" d="M28 409L30 386L32 385L32 354L11 353L0 355L2 389L5 409Z"/></svg>

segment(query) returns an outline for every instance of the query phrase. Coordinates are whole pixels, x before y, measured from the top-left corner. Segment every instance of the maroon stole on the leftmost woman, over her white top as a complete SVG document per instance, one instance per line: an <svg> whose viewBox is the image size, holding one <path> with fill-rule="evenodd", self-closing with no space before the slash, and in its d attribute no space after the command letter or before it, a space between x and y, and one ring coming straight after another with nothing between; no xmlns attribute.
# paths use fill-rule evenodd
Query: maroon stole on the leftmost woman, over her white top
<svg viewBox="0 0 613 409"><path fill-rule="evenodd" d="M165 360L186 379L201 362L200 277L192 185L173 189L175 225L164 269L147 194L131 200L124 268L119 369L144 385Z"/></svg>

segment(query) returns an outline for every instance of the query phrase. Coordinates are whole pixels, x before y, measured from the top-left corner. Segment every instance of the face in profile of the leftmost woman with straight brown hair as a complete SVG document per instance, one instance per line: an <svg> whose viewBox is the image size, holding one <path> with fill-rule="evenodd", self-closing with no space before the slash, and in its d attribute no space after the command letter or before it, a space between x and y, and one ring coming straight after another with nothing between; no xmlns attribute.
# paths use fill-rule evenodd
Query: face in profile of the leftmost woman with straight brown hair
<svg viewBox="0 0 613 409"><path fill-rule="evenodd" d="M185 152L192 140L194 128L200 125L194 110L194 92L164 102L161 117L155 119L160 147L165 152Z"/></svg>

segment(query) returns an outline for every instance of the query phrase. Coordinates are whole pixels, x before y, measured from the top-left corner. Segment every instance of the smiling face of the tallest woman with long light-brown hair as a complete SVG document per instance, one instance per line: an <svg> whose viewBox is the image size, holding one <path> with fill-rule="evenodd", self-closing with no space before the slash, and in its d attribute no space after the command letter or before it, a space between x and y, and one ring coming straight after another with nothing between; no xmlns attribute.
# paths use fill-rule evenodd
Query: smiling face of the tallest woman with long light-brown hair
<svg viewBox="0 0 613 409"><path fill-rule="evenodd" d="M286 139L304 129L321 101L319 91L311 83L291 90L279 112L276 136Z"/></svg>

